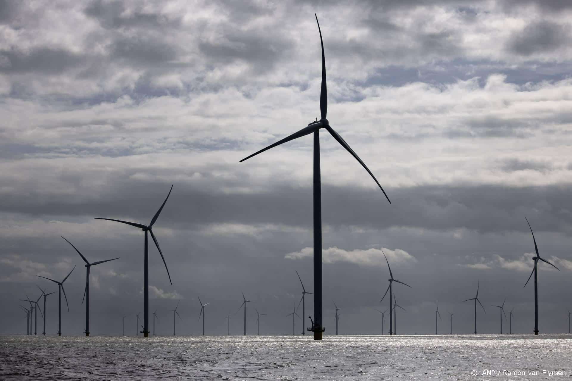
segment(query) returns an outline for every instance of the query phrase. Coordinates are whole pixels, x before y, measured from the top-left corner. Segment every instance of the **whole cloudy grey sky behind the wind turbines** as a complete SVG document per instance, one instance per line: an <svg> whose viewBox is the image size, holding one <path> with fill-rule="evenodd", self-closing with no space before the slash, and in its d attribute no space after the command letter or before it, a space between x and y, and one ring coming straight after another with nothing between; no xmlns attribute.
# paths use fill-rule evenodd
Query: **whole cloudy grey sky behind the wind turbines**
<svg viewBox="0 0 572 381"><path fill-rule="evenodd" d="M313 291L312 137L239 163L320 117L325 334L379 334L396 279L398 333L532 333L572 308L572 3L557 0L0 0L0 334L24 334L18 299L63 279L63 334L134 334L150 241L157 334L291 334ZM531 281L532 282L532 281ZM65 306L65 300L63 300ZM313 298L305 301L313 316ZM301 310L301 307L300 307ZM57 294L47 297L57 331ZM301 316L301 311L298 311ZM386 314L387 315L387 314ZM309 319L306 319L309 326ZM41 319L38 318L38 326ZM508 321L503 318L503 332ZM296 321L296 333L302 328ZM384 327L387 332L388 323ZM41 331L41 330L40 330Z"/></svg>

